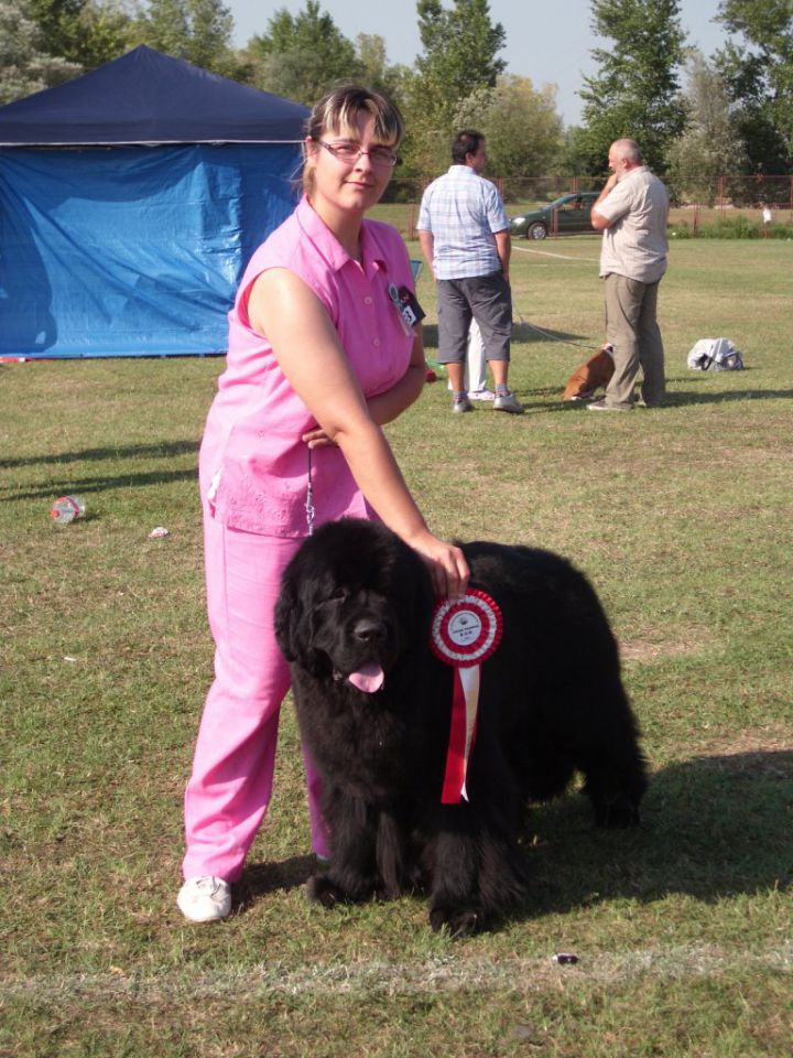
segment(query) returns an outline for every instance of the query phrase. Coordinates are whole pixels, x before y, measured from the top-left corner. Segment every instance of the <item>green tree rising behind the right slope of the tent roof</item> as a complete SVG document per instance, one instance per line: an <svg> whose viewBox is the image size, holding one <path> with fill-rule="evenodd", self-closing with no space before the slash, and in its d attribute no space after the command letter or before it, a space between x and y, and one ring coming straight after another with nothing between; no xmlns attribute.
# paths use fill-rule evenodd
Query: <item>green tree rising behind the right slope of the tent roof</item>
<svg viewBox="0 0 793 1058"><path fill-rule="evenodd" d="M232 77L233 18L222 0L149 0L138 22L141 43L188 63Z"/></svg>

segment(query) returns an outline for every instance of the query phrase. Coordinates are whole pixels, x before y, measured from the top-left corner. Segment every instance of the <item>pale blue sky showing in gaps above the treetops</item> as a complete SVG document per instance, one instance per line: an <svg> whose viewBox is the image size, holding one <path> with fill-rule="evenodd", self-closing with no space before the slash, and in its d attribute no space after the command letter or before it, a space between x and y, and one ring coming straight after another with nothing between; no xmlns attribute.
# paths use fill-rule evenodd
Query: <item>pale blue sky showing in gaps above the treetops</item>
<svg viewBox="0 0 793 1058"><path fill-rule="evenodd" d="M226 0L235 18L235 43L242 45L262 33L280 8L296 13L304 0ZM450 6L447 3L447 6ZM341 32L355 40L359 33L378 33L385 41L389 61L412 65L420 51L415 4L361 3L361 0L321 0ZM681 21L688 43L711 55L725 40L711 20L718 0L682 0ZM582 74L595 72L590 51L604 42L589 28L589 0L490 0L490 15L507 31L502 57L511 74L531 77L535 86L555 84L557 109L567 125L580 117Z"/></svg>

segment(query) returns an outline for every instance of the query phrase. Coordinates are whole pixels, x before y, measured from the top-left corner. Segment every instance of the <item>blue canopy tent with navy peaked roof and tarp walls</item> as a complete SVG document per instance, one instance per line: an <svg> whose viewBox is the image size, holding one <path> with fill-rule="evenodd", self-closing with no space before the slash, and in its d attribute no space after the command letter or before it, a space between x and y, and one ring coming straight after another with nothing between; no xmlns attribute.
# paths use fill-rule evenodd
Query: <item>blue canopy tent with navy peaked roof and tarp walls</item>
<svg viewBox="0 0 793 1058"><path fill-rule="evenodd" d="M0 357L226 350L307 109L141 46L0 108Z"/></svg>

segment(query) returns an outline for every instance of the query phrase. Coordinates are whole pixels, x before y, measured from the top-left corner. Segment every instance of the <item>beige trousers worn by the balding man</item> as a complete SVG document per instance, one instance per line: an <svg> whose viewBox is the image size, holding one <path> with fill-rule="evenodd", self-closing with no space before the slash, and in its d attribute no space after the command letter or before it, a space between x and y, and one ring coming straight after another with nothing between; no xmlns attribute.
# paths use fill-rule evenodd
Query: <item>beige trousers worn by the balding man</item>
<svg viewBox="0 0 793 1058"><path fill-rule="evenodd" d="M660 282L660 280L659 280ZM613 346L615 373L606 403L633 407L633 384L642 369L645 404L660 404L666 391L664 353L656 321L659 283L641 283L611 272L606 277L606 337Z"/></svg>

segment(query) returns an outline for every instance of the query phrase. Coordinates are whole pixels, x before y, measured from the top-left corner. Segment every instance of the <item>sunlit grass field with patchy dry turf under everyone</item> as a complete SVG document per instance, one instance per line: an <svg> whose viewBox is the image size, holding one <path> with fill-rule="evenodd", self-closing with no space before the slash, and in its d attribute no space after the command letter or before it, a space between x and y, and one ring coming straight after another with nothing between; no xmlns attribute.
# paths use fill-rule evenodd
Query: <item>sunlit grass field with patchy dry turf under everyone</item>
<svg viewBox="0 0 793 1058"><path fill-rule="evenodd" d="M195 464L222 363L0 365L3 1058L791 1054L793 246L673 246L669 403L623 415L558 400L602 341L596 260L587 238L515 250L525 415L453 417L437 382L389 428L439 533L587 573L652 771L633 833L596 832L575 791L537 808L526 906L468 941L432 933L419 897L308 906L289 702L236 910L182 920L211 667ZM420 296L432 357L426 272ZM688 371L721 335L748 369ZM55 527L67 492L87 516Z"/></svg>

